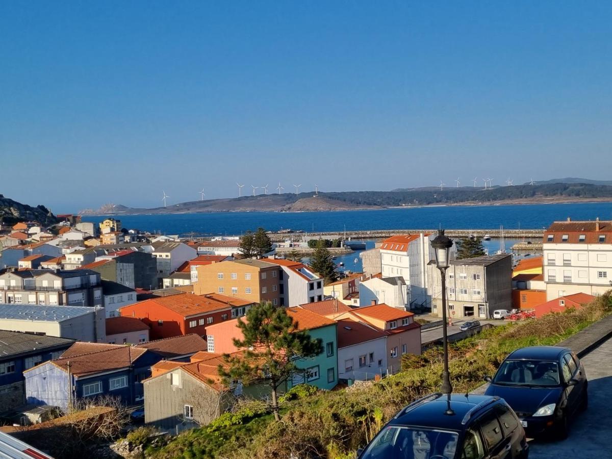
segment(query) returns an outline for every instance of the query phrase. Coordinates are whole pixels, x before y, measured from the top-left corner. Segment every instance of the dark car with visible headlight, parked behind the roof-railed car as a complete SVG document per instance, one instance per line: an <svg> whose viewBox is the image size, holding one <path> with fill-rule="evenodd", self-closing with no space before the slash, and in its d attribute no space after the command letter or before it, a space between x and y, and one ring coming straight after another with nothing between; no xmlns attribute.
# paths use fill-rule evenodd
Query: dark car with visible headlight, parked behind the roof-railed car
<svg viewBox="0 0 612 459"><path fill-rule="evenodd" d="M565 438L570 421L588 406L586 371L571 349L533 346L502 362L487 395L504 398L529 438L545 433Z"/></svg>

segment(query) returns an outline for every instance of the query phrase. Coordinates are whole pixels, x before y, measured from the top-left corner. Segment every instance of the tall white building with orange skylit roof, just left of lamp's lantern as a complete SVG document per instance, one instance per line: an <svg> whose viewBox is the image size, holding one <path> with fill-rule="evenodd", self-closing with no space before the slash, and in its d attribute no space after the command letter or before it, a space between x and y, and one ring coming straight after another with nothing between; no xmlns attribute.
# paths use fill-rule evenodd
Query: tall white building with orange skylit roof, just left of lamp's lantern
<svg viewBox="0 0 612 459"><path fill-rule="evenodd" d="M431 295L427 291L427 264L435 259L431 241L435 234L410 234L392 236L381 244L381 271L383 277L401 276L409 292L410 308L430 305ZM450 249L450 259L456 258L455 245Z"/></svg>

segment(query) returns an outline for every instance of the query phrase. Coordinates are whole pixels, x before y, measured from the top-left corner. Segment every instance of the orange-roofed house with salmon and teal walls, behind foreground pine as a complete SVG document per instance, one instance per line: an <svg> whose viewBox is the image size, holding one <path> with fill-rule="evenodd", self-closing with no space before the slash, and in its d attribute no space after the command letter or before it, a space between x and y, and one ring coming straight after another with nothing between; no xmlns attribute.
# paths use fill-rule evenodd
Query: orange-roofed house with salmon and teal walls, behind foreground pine
<svg viewBox="0 0 612 459"><path fill-rule="evenodd" d="M333 389L338 383L336 323L300 307L287 308L286 311L297 322L297 330L308 330L310 337L320 339L323 345L323 352L318 356L296 360L296 366L302 371L294 376L293 381L289 381L288 388L308 383L319 389ZM212 325L207 330L206 338L209 353L231 354L242 350L233 341L234 338L243 338L237 319Z"/></svg>

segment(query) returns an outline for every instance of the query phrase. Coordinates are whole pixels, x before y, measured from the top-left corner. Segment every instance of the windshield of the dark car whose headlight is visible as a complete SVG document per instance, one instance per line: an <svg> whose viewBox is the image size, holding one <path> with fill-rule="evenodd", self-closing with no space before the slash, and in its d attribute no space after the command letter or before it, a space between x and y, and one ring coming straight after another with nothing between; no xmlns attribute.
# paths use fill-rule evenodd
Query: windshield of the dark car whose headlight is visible
<svg viewBox="0 0 612 459"><path fill-rule="evenodd" d="M494 384L504 386L559 386L559 367L550 360L505 360L495 377Z"/></svg>

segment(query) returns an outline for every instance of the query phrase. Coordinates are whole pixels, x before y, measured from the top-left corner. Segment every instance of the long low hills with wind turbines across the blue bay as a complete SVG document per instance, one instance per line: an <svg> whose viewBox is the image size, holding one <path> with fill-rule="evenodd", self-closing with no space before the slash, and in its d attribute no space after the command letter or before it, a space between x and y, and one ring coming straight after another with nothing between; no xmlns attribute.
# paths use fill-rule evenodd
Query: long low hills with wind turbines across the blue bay
<svg viewBox="0 0 612 459"><path fill-rule="evenodd" d="M115 205L81 214L184 214L188 212L306 212L347 209L376 209L398 206L428 206L491 203L550 203L569 201L612 201L611 185L537 184L512 187L435 187L406 188L390 192L330 192L313 196L312 192L281 195L242 196L217 200L189 201L167 207L139 209Z"/></svg>

